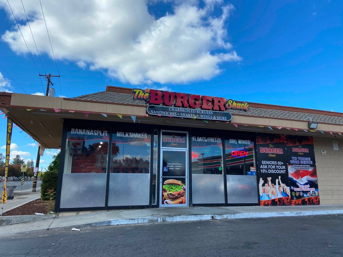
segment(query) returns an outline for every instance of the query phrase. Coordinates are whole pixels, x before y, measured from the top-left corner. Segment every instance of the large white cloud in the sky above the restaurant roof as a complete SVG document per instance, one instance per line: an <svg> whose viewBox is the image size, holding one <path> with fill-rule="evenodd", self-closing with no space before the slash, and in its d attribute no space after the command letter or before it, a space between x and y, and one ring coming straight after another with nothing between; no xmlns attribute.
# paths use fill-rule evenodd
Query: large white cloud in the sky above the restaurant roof
<svg viewBox="0 0 343 257"><path fill-rule="evenodd" d="M210 79L222 72L221 63L241 60L227 41L233 5L220 0L204 0L203 4L177 0L171 3L173 12L155 19L147 5L156 2L43 2L56 59L75 62L82 69L104 70L131 84ZM52 58L40 6L36 0L26 0L24 6L38 49ZM220 14L214 6L221 8ZM7 1L0 0L1 7L13 22L2 40L17 54L27 54ZM29 49L35 49L21 2L11 1L11 7L23 24Z"/></svg>

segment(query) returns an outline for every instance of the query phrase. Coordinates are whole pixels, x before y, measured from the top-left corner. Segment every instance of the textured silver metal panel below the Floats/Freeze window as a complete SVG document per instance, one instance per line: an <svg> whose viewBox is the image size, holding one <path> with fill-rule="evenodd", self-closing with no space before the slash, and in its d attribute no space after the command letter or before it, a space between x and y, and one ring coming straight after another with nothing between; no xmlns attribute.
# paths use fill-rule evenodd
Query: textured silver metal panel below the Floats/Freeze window
<svg viewBox="0 0 343 257"><path fill-rule="evenodd" d="M193 204L224 204L223 174L192 174Z"/></svg>

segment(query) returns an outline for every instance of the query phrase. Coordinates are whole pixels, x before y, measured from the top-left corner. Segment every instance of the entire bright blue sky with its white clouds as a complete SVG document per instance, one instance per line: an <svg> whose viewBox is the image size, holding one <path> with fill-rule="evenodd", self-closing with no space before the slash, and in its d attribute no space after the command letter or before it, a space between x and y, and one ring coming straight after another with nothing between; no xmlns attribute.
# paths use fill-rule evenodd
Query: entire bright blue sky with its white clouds
<svg viewBox="0 0 343 257"><path fill-rule="evenodd" d="M104 1L100 6L87 1L82 8L79 1L60 2L42 1L61 75L60 84L53 79L57 96L116 85L343 110L341 1ZM57 75L39 1L23 3L44 69L21 2L10 1L38 70ZM28 94L42 93L3 0L0 36L0 65ZM6 90L24 93L0 72ZM5 142L5 120L0 122ZM12 142L17 151L28 152L24 158L35 160L37 147L24 136L15 128ZM49 152L42 159L51 161Z"/></svg>

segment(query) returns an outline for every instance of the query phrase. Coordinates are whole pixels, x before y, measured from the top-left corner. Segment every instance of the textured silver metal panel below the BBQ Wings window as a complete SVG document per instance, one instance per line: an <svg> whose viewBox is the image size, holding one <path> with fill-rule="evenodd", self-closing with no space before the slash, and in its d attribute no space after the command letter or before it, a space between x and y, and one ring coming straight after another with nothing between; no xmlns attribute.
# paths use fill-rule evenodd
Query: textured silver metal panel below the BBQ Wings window
<svg viewBox="0 0 343 257"><path fill-rule="evenodd" d="M257 204L256 176L226 175L228 204Z"/></svg>

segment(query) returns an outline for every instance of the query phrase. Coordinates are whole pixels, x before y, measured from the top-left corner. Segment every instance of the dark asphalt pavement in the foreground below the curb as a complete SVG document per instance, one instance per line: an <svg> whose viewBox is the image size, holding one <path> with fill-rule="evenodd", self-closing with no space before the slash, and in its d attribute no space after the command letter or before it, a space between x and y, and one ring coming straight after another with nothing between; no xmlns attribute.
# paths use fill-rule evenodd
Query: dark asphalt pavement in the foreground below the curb
<svg viewBox="0 0 343 257"><path fill-rule="evenodd" d="M2 237L3 256L343 256L343 215L165 222Z"/></svg>

